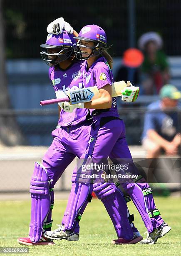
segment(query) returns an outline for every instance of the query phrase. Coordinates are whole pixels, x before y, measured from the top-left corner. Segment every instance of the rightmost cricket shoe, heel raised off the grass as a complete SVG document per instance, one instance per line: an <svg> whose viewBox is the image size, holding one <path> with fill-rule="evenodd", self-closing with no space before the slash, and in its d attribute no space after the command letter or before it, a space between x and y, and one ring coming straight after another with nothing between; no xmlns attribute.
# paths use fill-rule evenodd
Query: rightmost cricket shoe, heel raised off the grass
<svg viewBox="0 0 181 256"><path fill-rule="evenodd" d="M141 244L154 244L158 238L165 236L171 230L171 227L165 222L163 222L158 228L155 228L151 233L147 232L147 237Z"/></svg>

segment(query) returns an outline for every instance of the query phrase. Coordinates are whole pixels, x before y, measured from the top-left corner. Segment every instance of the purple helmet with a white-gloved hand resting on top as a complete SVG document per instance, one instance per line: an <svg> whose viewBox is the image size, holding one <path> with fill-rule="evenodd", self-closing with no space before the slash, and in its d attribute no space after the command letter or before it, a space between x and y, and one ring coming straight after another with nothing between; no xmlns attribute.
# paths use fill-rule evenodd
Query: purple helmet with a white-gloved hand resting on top
<svg viewBox="0 0 181 256"><path fill-rule="evenodd" d="M47 49L40 52L42 59L50 67L55 66L72 55L75 42L73 35L68 34L66 30L58 35L48 34L46 43L40 45L40 47ZM57 51L51 53L49 49L57 49Z"/></svg>

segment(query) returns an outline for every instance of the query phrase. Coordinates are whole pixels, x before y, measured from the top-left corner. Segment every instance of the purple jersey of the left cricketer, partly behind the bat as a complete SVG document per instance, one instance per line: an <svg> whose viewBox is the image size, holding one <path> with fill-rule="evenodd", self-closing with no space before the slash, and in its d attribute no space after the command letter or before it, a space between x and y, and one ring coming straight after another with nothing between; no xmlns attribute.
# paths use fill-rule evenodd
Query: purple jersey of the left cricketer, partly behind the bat
<svg viewBox="0 0 181 256"><path fill-rule="evenodd" d="M51 67L49 69L49 77L52 81L57 98L67 96L72 90L84 88L82 75L84 63L82 61L73 62L67 69L60 67ZM65 112L62 108L60 111L60 119L58 125L68 126L77 125L86 120L89 110L85 108L76 108L72 113Z"/></svg>

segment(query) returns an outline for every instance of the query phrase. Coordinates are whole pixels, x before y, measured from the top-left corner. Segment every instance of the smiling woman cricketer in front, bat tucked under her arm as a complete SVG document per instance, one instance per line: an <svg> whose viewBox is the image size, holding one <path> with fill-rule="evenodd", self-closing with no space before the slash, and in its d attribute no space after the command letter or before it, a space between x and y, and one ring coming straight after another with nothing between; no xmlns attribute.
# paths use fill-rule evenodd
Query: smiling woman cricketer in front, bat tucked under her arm
<svg viewBox="0 0 181 256"><path fill-rule="evenodd" d="M125 138L124 123L118 118L116 99L113 98L112 100L111 95L113 76L110 66L112 59L105 51L107 45L106 33L99 26L88 25L82 28L79 36L75 38L79 40L77 44L74 44L77 58L87 59L84 63L83 71L84 86L97 86L101 94L99 99L84 104L84 108L89 108L93 116L94 123L91 125L90 141L94 143L87 144L87 149L81 158L91 158L94 162L100 158L107 159L108 156L110 158L131 159ZM74 105L74 107L76 107L76 105ZM81 177L81 172L79 173L79 177ZM87 180L85 182L89 183ZM142 182L144 182L144 180ZM106 183L103 185L108 186ZM81 201L81 205L84 205L84 197L87 196L86 191L84 191L85 184L80 183L77 184L77 186L79 186L80 189L79 196L75 194L77 187L72 187L71 200L73 198L72 201L79 201L79 203ZM94 189L100 198L104 194L104 186L97 186L97 188ZM159 216L160 213L155 207L149 185L146 181L145 183L138 184L126 182L123 184L123 187L139 210L148 230L148 237L144 243L155 243L159 237L164 236L171 228L162 220L161 216ZM90 185L87 193L88 191L90 192L91 189ZM65 228L62 230L60 226L55 232L46 232L45 236L53 239L62 239L67 235L71 235L71 230L78 213L79 205L73 207L71 203L68 202ZM129 243L129 238L126 239ZM120 243L121 241L126 243L122 238L119 239Z"/></svg>

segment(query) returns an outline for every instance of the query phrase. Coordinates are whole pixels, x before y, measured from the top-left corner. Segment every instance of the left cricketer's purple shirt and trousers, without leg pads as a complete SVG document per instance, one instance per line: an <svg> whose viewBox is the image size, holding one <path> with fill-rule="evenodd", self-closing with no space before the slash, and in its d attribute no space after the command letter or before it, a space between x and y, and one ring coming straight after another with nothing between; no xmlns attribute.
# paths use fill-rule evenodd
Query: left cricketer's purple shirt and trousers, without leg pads
<svg viewBox="0 0 181 256"><path fill-rule="evenodd" d="M69 90L82 88L83 68L84 66L80 61L73 62L67 70L58 67L50 68L49 75L56 95L59 92L64 92L67 95ZM47 169L59 166L56 172L55 170L48 172L50 179L53 179L51 186L55 185L57 179L60 178L64 169L75 156L80 157L82 155L82 151L89 140L91 121L87 121L88 116L89 110L85 108L74 109L72 113L67 113L61 109L58 121L61 127L52 132L54 140L43 158L43 164Z"/></svg>

